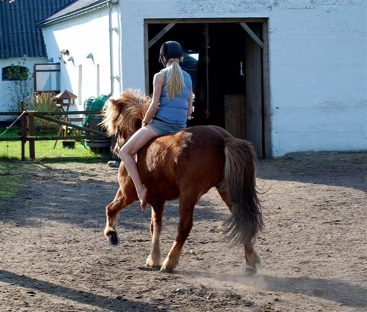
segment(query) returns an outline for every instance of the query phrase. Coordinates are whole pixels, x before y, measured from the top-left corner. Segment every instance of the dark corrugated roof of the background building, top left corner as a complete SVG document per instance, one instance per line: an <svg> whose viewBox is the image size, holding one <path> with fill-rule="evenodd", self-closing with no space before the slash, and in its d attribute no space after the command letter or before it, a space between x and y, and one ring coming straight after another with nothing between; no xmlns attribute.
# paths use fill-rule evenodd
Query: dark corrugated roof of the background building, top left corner
<svg viewBox="0 0 367 312"><path fill-rule="evenodd" d="M0 2L0 59L46 56L41 29L36 24L76 0L21 0Z"/></svg>

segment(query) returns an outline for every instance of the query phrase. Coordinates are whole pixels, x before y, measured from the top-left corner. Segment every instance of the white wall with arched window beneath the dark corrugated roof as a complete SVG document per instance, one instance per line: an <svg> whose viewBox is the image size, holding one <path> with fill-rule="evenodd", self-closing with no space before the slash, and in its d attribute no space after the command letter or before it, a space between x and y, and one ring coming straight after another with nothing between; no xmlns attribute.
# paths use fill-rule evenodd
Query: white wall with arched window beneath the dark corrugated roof
<svg viewBox="0 0 367 312"><path fill-rule="evenodd" d="M13 102L11 100L13 89L11 81L2 81L3 68L11 66L12 64L25 66L33 74L33 65L36 63L47 63L46 57L26 57L25 63L23 65L23 58L6 58L0 59L0 111L9 111ZM29 90L33 91L33 78L29 82ZM14 116L0 116L0 120L14 119Z"/></svg>

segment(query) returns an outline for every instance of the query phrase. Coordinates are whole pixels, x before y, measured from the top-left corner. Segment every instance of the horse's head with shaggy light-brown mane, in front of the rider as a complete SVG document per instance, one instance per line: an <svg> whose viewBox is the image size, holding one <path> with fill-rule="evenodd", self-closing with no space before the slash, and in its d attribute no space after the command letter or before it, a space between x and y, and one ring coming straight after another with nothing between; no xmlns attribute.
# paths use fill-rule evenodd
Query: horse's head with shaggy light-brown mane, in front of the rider
<svg viewBox="0 0 367 312"><path fill-rule="evenodd" d="M111 98L104 105L101 124L109 136L117 136L116 153L141 128L150 101L140 90L128 89L118 99Z"/></svg>

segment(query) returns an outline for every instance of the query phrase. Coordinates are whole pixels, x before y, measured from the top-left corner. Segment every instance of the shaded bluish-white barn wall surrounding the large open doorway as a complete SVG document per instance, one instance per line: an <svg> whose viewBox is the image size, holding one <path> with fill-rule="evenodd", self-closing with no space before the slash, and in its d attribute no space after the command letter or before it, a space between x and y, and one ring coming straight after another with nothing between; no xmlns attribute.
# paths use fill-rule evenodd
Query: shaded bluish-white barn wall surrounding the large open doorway
<svg viewBox="0 0 367 312"><path fill-rule="evenodd" d="M273 155L367 150L365 12L357 0L120 1L121 88L145 90L144 19L266 17Z"/></svg>

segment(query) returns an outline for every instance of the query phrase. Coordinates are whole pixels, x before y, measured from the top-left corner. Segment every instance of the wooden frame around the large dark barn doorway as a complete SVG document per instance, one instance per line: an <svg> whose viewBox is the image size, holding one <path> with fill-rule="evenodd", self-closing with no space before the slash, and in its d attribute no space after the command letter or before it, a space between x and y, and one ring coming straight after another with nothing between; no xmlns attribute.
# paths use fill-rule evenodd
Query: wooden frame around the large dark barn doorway
<svg viewBox="0 0 367 312"><path fill-rule="evenodd" d="M149 41L148 24L188 24L188 23L262 23L262 52L263 68L263 156L272 157L271 149L271 120L270 120L270 81L269 81L269 29L268 18L192 18L192 19L144 19L144 65L145 65L145 92L149 91Z"/></svg>

